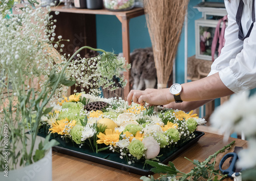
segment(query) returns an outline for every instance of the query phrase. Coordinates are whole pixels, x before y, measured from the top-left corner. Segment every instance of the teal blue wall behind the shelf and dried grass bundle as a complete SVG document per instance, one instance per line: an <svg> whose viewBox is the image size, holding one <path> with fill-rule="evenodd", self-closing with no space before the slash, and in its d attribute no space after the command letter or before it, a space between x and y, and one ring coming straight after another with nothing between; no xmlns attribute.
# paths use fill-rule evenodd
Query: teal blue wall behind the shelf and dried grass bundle
<svg viewBox="0 0 256 181"><path fill-rule="evenodd" d="M188 57L195 55L195 20L202 17L202 13L193 6L202 0L190 0L188 5ZM214 0L223 2L223 0ZM171 20L170 20L170 23ZM96 15L97 47L106 51L122 52L121 23L116 16ZM130 49L151 47L145 16L130 20ZM176 82L184 83L184 31L181 35L176 55Z"/></svg>

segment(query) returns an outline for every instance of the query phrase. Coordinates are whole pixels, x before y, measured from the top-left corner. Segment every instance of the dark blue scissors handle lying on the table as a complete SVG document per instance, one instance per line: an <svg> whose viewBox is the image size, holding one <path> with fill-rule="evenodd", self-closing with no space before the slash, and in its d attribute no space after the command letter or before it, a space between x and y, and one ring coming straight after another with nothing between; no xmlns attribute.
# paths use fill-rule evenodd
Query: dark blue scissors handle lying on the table
<svg viewBox="0 0 256 181"><path fill-rule="evenodd" d="M223 170L222 169L222 165L223 163L229 158L229 157L233 157L233 160L230 164L230 166ZM220 162L220 165L219 165L219 168L220 168L220 171L225 175L227 174L227 176L229 178L233 178L234 180L237 180L237 181L242 181L242 176L241 176L241 173L240 172L235 172L234 170L236 169L236 162L238 160L238 155L237 153L234 153L234 152L230 152L230 153L227 153L223 156L223 158L221 159L221 162Z"/></svg>

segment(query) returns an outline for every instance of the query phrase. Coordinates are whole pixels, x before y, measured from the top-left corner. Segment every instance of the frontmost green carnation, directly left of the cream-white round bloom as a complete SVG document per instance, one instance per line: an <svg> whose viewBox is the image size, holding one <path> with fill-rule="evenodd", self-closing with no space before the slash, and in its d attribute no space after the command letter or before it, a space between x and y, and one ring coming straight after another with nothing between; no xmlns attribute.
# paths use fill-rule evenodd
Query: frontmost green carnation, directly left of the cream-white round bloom
<svg viewBox="0 0 256 181"><path fill-rule="evenodd" d="M139 160L145 153L144 144L139 140L133 140L127 147L129 152Z"/></svg>

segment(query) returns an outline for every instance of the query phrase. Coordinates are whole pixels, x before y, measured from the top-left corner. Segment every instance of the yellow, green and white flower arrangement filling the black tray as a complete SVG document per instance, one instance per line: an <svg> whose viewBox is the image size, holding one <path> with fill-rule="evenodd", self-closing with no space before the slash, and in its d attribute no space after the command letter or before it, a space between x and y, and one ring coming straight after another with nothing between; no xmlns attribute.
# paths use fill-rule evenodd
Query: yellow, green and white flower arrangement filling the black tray
<svg viewBox="0 0 256 181"><path fill-rule="evenodd" d="M76 93L58 100L41 124L63 140L90 147L94 152L120 153L128 164L157 160L160 149L172 149L195 138L197 125L205 123L193 111L128 105L121 98L101 98Z"/></svg>

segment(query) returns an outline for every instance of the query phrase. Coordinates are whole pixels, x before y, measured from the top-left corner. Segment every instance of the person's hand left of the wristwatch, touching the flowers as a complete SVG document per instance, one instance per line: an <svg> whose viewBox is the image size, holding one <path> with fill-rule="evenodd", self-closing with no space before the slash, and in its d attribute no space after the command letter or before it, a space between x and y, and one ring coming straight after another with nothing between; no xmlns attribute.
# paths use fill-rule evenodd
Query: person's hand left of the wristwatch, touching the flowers
<svg viewBox="0 0 256 181"><path fill-rule="evenodd" d="M150 105L165 105L174 101L174 96L170 94L169 88L154 89L147 88L145 90L131 90L127 96L129 105L135 102L140 105L148 103Z"/></svg>

